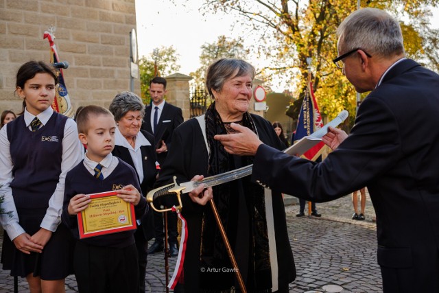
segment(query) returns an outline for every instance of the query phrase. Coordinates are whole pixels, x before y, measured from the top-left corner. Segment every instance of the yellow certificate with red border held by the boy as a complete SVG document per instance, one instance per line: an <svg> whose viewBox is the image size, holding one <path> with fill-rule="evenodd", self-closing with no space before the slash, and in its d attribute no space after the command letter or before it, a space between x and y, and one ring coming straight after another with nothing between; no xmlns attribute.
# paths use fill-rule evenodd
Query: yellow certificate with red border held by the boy
<svg viewBox="0 0 439 293"><path fill-rule="evenodd" d="M117 197L116 191L88 194L91 202L78 213L80 238L133 230L134 206Z"/></svg>

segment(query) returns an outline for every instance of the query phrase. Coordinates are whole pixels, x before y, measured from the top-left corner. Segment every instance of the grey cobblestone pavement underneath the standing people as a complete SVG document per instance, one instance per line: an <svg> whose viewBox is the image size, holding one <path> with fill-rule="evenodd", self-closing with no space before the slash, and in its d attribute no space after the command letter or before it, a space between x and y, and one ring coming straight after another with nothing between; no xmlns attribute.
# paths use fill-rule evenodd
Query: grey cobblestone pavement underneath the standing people
<svg viewBox="0 0 439 293"><path fill-rule="evenodd" d="M351 196L317 204L317 209L322 218L296 218L298 205L285 208L297 270L289 292L340 292L337 288L344 293L381 292L376 225L372 222L375 213L370 198L367 197L365 221L351 220ZM169 258L169 279L175 261L176 257ZM148 256L147 292L166 292L164 263L163 253ZM66 290L78 292L74 276L67 278ZM0 293L10 292L14 292L13 278L8 271L0 270ZM19 278L19 292L28 292L25 279Z"/></svg>

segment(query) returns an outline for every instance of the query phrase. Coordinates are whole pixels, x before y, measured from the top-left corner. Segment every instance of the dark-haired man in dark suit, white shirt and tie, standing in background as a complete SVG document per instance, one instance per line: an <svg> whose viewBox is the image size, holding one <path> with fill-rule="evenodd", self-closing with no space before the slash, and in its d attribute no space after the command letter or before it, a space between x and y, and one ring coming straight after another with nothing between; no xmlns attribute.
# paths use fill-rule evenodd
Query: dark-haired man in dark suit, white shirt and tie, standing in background
<svg viewBox="0 0 439 293"><path fill-rule="evenodd" d="M176 106L165 102L166 80L165 78L156 77L150 81L150 95L152 104L145 108L145 117L143 118L142 129L154 134L156 141L157 161L161 165L166 159L167 151L171 148L171 137L174 129L183 122L182 110ZM161 204L170 207L171 202L161 202ZM177 215L168 213L168 242L169 253L171 257L178 255L177 248ZM154 230L155 240L150 246L147 253L156 253L164 248L163 238L163 215L154 211Z"/></svg>

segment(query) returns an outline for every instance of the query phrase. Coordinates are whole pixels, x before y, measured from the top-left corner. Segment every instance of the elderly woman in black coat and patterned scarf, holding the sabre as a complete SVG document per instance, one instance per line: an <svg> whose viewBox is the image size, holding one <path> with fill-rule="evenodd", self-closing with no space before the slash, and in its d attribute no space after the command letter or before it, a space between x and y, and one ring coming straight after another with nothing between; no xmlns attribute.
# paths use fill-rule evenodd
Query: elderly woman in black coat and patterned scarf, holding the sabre
<svg viewBox="0 0 439 293"><path fill-rule="evenodd" d="M157 186L200 179L251 165L253 156L228 154L215 134L233 135L230 123L250 128L264 143L281 150L270 122L248 113L252 97L252 65L220 59L206 72L206 87L214 101L202 117L181 124L158 177ZM230 292L239 288L235 269L217 228L210 205L213 198L248 292L288 292L296 268L289 246L285 208L280 193L264 189L244 177L209 189L182 195L187 220L183 263L185 292Z"/></svg>

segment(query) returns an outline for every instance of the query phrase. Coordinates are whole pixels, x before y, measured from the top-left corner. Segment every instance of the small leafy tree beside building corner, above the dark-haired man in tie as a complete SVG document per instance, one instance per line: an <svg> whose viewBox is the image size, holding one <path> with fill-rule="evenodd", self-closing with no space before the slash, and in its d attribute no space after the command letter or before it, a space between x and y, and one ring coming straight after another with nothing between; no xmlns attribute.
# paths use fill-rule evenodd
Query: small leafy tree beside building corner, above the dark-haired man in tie
<svg viewBox="0 0 439 293"><path fill-rule="evenodd" d="M151 100L150 80L156 76L154 73L163 77L177 73L180 70L178 57L174 47L162 46L157 49L156 54L151 53L139 59L141 97L145 104L149 104Z"/></svg>

